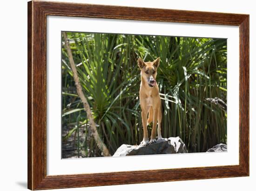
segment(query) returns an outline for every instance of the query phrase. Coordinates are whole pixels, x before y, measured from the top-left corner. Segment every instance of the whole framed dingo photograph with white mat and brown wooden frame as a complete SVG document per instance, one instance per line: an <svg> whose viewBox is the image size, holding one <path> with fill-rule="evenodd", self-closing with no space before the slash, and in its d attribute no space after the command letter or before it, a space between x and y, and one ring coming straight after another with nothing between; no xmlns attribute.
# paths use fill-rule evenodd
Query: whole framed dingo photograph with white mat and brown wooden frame
<svg viewBox="0 0 256 191"><path fill-rule="evenodd" d="M249 176L249 15L28 2L28 188Z"/></svg>

